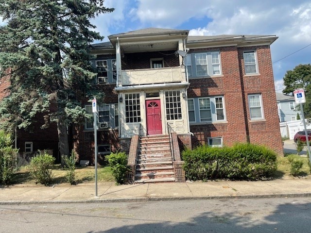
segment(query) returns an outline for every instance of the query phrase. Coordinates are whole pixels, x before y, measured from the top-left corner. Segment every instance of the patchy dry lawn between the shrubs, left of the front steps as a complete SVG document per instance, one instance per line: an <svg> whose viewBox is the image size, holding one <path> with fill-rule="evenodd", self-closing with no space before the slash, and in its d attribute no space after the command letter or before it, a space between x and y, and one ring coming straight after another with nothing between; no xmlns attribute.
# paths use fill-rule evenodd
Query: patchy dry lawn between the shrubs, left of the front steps
<svg viewBox="0 0 311 233"><path fill-rule="evenodd" d="M52 168L52 182L51 184L68 183L66 179L67 171L61 165L54 165ZM95 181L95 167L94 166L77 166L75 169L76 183L87 183ZM114 182L111 168L108 166L98 167L97 169L98 182ZM13 177L13 184L35 184L35 179L32 178L27 166L23 166L17 171Z"/></svg>

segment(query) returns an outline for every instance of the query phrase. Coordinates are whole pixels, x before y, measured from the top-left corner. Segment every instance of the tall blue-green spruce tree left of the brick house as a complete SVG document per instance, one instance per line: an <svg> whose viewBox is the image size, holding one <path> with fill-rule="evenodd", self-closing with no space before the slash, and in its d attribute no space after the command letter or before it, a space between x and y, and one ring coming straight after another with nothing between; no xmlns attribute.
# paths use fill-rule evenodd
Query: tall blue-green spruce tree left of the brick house
<svg viewBox="0 0 311 233"><path fill-rule="evenodd" d="M0 1L0 78L11 82L0 103L3 128L29 128L44 113L42 127L57 123L60 153L69 155L67 126L90 117L77 95L104 95L90 84L90 44L103 39L90 19L113 10L104 0Z"/></svg>

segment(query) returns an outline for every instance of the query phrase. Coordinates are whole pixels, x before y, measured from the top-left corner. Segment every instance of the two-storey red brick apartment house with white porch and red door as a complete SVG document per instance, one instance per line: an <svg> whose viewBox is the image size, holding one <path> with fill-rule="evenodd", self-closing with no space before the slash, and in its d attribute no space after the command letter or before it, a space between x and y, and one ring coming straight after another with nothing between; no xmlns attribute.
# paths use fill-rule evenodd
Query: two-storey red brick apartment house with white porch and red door
<svg viewBox="0 0 311 233"><path fill-rule="evenodd" d="M277 37L188 33L148 28L92 46L97 58L91 63L99 70L94 85L105 93L98 107L99 161L123 150L135 179L158 173L167 181L165 163L145 157L156 168L149 169L142 166L143 155L168 154L172 167L172 156L180 161L185 147L237 142L263 144L283 155L270 54ZM90 102L82 103L92 113ZM80 160L94 164L92 120L73 127L73 148Z"/></svg>

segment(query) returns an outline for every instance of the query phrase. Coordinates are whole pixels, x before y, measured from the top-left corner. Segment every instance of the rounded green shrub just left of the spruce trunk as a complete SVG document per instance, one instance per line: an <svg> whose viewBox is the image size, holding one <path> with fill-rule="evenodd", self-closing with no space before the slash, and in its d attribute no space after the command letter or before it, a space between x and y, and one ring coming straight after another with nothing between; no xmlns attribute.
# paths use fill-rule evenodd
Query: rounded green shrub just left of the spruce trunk
<svg viewBox="0 0 311 233"><path fill-rule="evenodd" d="M52 181L52 169L55 158L46 151L38 151L29 165L29 171L36 183L49 184Z"/></svg>

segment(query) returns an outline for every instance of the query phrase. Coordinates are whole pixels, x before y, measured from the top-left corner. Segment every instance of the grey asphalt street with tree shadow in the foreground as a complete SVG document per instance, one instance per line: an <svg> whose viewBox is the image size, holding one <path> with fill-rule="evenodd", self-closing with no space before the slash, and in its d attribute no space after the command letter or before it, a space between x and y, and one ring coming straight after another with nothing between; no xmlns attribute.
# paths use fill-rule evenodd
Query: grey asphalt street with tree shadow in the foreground
<svg viewBox="0 0 311 233"><path fill-rule="evenodd" d="M1 233L307 233L311 198L1 205Z"/></svg>

